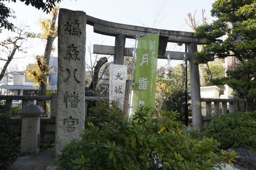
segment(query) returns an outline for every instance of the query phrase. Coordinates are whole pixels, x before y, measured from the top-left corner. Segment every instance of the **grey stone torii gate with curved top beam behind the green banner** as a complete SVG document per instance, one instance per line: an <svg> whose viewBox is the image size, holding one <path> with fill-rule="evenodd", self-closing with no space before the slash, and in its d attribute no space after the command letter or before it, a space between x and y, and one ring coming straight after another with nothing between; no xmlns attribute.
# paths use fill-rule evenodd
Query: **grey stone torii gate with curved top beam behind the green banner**
<svg viewBox="0 0 256 170"><path fill-rule="evenodd" d="M87 24L93 26L93 31L98 34L114 36L115 46L93 45L93 53L114 55L114 64L123 65L124 56L133 56L134 48L125 48L125 39L135 39L136 35L156 32L159 29L131 26L113 23L86 15ZM188 52L166 51L167 42L187 44ZM158 59L183 60L184 54L189 61L189 76L192 100L192 122L193 128L202 129L201 96L198 65L193 64L196 57L197 44L204 44L203 39L198 39L192 32L160 30Z"/></svg>

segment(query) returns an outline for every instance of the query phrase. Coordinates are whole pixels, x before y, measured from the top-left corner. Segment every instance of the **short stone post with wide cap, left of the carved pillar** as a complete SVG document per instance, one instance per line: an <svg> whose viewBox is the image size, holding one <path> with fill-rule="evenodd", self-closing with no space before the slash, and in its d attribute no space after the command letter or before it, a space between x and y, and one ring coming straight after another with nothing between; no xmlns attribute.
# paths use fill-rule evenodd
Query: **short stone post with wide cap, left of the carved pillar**
<svg viewBox="0 0 256 170"><path fill-rule="evenodd" d="M26 105L18 114L22 117L20 153L39 152L40 117L44 110L34 104Z"/></svg>

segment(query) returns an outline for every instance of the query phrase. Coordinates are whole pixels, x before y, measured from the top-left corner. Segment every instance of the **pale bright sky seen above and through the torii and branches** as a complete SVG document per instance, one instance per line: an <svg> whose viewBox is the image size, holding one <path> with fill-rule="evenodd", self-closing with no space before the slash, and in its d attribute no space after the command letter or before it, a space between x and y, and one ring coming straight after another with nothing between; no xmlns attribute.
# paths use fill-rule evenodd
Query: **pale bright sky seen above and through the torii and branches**
<svg viewBox="0 0 256 170"><path fill-rule="evenodd" d="M60 8L84 11L87 15L92 17L116 23L175 31L192 31L192 29L185 24L187 14L191 12L192 15L194 15L196 11L195 17L200 24L201 10L205 9L204 16L208 18L207 22L210 23L213 20L210 16L210 10L214 1L215 0L63 0L60 3ZM41 32L39 26L40 18L50 18L50 14L46 14L32 6L26 6L19 1L17 1L17 3L5 2L5 4L15 11L17 18L12 20L15 26L26 25L29 26L30 31L36 33ZM3 31L3 33L0 34L0 40L4 40L11 35L12 33L10 31ZM54 42L56 47L57 41L56 39ZM114 41L114 37L93 33L93 27L87 25L87 45L114 45ZM134 44L135 40L126 39L125 47L134 47ZM28 63L33 63L34 57L36 55L42 55L45 48L45 42L41 40L32 40L24 45L29 46L27 49L28 53L17 53L17 56L25 58L12 61L13 65L17 64L19 70L26 68ZM169 51L184 51L183 46L180 47L174 43L168 43L167 48ZM0 51L0 55L4 57L5 54ZM53 52L53 56L58 56L57 50ZM88 63L89 58L87 52L86 61ZM172 60L169 64L177 65L178 63L182 63L182 61ZM0 64L2 66L3 62ZM166 64L168 64L166 60L158 59L158 66L165 66Z"/></svg>

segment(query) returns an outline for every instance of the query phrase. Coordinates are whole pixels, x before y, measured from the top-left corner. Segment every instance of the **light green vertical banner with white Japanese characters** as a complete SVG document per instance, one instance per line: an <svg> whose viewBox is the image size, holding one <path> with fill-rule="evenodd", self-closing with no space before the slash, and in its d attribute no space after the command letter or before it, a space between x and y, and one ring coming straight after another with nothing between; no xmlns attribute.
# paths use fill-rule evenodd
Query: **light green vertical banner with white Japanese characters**
<svg viewBox="0 0 256 170"><path fill-rule="evenodd" d="M132 108L155 107L159 34L139 37L135 67ZM131 114L133 114L132 109Z"/></svg>

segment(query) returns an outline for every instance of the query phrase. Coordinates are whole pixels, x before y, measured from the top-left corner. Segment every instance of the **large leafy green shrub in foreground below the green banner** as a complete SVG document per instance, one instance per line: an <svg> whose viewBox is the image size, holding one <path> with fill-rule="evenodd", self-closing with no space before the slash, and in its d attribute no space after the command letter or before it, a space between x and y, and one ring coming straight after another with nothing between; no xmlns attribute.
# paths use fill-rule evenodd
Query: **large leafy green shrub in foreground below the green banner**
<svg viewBox="0 0 256 170"><path fill-rule="evenodd" d="M58 169L81 170L211 170L223 158L230 162L235 152L221 150L212 138L201 141L184 133L186 127L177 121L177 112L156 113L139 108L129 122L122 113L108 112L108 122L89 128L81 140L73 139L62 150ZM195 135L195 134L194 134Z"/></svg>

